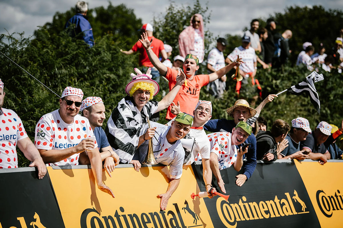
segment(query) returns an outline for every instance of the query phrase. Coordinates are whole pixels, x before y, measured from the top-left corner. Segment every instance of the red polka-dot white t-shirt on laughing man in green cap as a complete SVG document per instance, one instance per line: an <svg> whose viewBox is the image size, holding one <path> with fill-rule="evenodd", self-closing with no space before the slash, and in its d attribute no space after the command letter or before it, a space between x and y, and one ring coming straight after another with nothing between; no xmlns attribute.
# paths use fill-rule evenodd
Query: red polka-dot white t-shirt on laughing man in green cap
<svg viewBox="0 0 343 228"><path fill-rule="evenodd" d="M230 167L237 160L236 145L231 145L231 133L215 132L207 135L210 140L211 153L218 156L219 170ZM200 161L201 156L197 157Z"/></svg>

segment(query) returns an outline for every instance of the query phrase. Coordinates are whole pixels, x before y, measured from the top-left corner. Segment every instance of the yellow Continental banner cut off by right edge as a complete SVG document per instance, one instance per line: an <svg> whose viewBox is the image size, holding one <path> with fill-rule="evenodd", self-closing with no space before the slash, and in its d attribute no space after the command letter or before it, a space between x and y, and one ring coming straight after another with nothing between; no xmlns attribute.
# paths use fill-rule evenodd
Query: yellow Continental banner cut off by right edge
<svg viewBox="0 0 343 228"><path fill-rule="evenodd" d="M343 176L341 162L298 162L298 172L305 184L321 227L343 227Z"/></svg>

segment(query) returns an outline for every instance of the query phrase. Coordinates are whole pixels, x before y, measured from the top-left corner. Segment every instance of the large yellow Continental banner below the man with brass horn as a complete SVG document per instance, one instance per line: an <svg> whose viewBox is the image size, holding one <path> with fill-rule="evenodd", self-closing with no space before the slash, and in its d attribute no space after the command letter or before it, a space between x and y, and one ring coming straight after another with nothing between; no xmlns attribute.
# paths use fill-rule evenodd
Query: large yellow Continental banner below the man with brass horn
<svg viewBox="0 0 343 228"><path fill-rule="evenodd" d="M91 169L52 169L49 176L66 228L213 227L191 166L184 166L180 184L161 211L158 194L168 188L168 167L116 168L103 181L116 198L100 191Z"/></svg>

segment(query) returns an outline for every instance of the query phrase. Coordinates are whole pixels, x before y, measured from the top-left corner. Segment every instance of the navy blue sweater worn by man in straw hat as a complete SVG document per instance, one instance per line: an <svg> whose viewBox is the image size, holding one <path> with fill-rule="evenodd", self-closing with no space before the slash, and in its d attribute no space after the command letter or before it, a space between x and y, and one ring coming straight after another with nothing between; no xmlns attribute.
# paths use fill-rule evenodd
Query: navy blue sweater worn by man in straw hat
<svg viewBox="0 0 343 228"><path fill-rule="evenodd" d="M232 129L236 126L234 120L220 119L220 120L209 120L204 126L206 131L219 132L226 131L232 133ZM249 179L256 168L256 138L254 134L251 134L244 143L251 143L248 152L243 156L247 162L244 165L244 175ZM240 146L240 145L239 145ZM236 146L239 148L239 146Z"/></svg>

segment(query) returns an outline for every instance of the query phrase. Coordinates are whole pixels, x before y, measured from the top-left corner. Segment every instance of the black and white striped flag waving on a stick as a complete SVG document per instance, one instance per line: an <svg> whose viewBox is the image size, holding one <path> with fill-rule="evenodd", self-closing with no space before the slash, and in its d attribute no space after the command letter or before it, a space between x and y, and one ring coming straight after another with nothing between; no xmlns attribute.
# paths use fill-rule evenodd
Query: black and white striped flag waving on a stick
<svg viewBox="0 0 343 228"><path fill-rule="evenodd" d="M300 95L302 93L307 94L310 97L311 103L315 106L318 113L320 113L320 101L319 96L315 87L315 83L324 80L323 74L318 74L313 71L304 81L297 85L291 86L287 91L291 94Z"/></svg>

